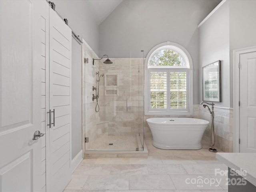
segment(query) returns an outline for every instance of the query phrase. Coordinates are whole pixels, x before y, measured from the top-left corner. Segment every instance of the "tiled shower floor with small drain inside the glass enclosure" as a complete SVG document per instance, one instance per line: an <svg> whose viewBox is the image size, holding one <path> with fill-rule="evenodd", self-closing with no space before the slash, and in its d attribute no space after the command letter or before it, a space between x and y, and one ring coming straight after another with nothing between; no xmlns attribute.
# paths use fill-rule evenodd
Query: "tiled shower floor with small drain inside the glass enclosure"
<svg viewBox="0 0 256 192"><path fill-rule="evenodd" d="M110 145L112 144L112 145ZM130 136L114 136L101 134L91 144L89 150L136 150L138 148L138 141L136 134Z"/></svg>

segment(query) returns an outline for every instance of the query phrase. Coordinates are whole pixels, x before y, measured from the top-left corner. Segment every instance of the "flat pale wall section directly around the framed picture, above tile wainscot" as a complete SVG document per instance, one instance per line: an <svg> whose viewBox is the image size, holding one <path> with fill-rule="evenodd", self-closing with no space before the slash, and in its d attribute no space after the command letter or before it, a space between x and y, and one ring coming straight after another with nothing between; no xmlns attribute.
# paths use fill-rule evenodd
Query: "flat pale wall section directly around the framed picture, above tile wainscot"
<svg viewBox="0 0 256 192"><path fill-rule="evenodd" d="M202 101L202 67L221 60L222 102L216 106L230 107L230 30L229 1L226 1L200 26L199 100Z"/></svg>

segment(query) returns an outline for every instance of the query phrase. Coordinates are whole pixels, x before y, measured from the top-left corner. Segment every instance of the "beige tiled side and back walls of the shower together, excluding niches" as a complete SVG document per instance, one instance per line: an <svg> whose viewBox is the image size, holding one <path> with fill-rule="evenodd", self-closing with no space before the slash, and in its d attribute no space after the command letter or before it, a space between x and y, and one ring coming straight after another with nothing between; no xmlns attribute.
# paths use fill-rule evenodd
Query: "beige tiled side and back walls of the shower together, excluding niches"
<svg viewBox="0 0 256 192"><path fill-rule="evenodd" d="M85 45L84 45L85 46ZM84 137L90 142L84 146L85 150L93 150L92 142L100 135L136 136L143 132L143 69L140 58L110 58L113 64L103 64L104 59L98 58L87 47L84 49L88 64L84 64L83 79L83 107L84 107ZM92 86L96 87L96 79L104 74L99 82L99 112L95 111L96 100L92 101ZM117 86L105 86L105 77L118 74ZM106 95L105 90L118 90L118 95ZM126 102L127 99L127 102Z"/></svg>

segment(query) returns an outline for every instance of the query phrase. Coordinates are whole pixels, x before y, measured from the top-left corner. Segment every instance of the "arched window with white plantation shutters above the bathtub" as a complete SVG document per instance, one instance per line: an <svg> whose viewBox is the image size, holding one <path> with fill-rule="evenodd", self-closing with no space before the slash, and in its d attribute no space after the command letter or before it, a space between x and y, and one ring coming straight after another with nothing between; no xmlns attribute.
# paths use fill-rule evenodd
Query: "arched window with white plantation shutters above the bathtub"
<svg viewBox="0 0 256 192"><path fill-rule="evenodd" d="M179 44L155 46L146 57L145 114L192 114L192 59Z"/></svg>

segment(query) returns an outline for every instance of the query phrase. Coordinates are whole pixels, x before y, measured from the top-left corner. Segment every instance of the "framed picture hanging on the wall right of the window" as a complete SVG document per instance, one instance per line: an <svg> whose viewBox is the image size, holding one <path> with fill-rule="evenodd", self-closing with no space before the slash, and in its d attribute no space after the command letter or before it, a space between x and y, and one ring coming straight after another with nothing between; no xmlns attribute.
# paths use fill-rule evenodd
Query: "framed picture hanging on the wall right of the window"
<svg viewBox="0 0 256 192"><path fill-rule="evenodd" d="M221 61L202 68L203 100L221 102Z"/></svg>

